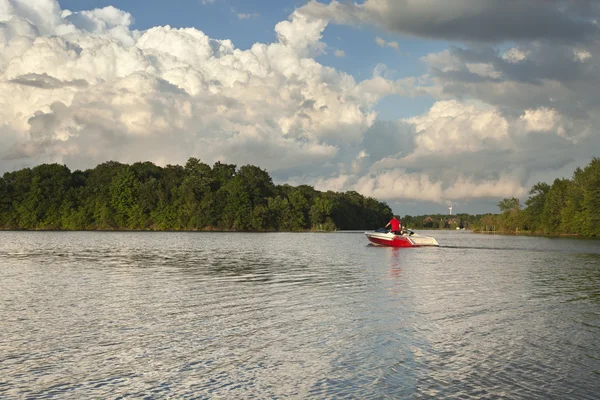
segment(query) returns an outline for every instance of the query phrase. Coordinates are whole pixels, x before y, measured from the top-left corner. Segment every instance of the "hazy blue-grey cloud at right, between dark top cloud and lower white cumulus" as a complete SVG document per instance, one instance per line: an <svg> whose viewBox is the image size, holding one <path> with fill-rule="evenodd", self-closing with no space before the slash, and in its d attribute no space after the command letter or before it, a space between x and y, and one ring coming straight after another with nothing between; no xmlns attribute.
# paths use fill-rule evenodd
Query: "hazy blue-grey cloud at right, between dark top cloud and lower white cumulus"
<svg viewBox="0 0 600 400"><path fill-rule="evenodd" d="M430 69L423 89L436 96L477 99L510 118L523 116L529 130L539 131L533 126L544 120L555 133L581 140L594 134L600 116L599 60L594 56L599 50L597 43L541 41L504 52L452 47L423 58Z"/></svg>

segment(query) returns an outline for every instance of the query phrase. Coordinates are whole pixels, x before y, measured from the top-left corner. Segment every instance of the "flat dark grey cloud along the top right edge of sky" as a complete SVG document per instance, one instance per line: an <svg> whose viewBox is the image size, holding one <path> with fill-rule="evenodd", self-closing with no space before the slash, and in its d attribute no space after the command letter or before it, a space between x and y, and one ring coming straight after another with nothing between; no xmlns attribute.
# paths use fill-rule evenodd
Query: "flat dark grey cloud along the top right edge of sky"
<svg viewBox="0 0 600 400"><path fill-rule="evenodd" d="M351 4L311 0L299 12L342 24L372 24L401 34L444 40L502 42L588 40L598 34L593 1L366 0Z"/></svg>

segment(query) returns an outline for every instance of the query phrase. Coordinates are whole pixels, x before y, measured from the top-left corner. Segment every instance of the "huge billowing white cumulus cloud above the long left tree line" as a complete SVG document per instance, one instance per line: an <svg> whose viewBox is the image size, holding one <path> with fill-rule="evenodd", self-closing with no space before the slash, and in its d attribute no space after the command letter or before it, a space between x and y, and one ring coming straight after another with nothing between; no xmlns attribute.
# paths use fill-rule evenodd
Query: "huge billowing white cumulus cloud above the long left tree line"
<svg viewBox="0 0 600 400"><path fill-rule="evenodd" d="M323 22L292 16L276 26L279 41L242 51L196 29L133 31L113 7L10 4L0 22L10 49L0 59L2 170L199 156L276 172L336 157L375 120L377 94L310 58L325 48Z"/></svg>

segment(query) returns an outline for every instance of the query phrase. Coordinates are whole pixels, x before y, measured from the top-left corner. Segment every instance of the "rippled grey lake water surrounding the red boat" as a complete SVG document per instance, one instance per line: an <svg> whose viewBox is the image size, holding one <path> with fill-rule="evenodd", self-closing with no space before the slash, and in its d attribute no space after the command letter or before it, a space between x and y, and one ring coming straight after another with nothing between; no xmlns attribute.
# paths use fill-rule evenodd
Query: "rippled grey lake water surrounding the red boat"
<svg viewBox="0 0 600 400"><path fill-rule="evenodd" d="M0 232L0 398L597 399L600 242Z"/></svg>

